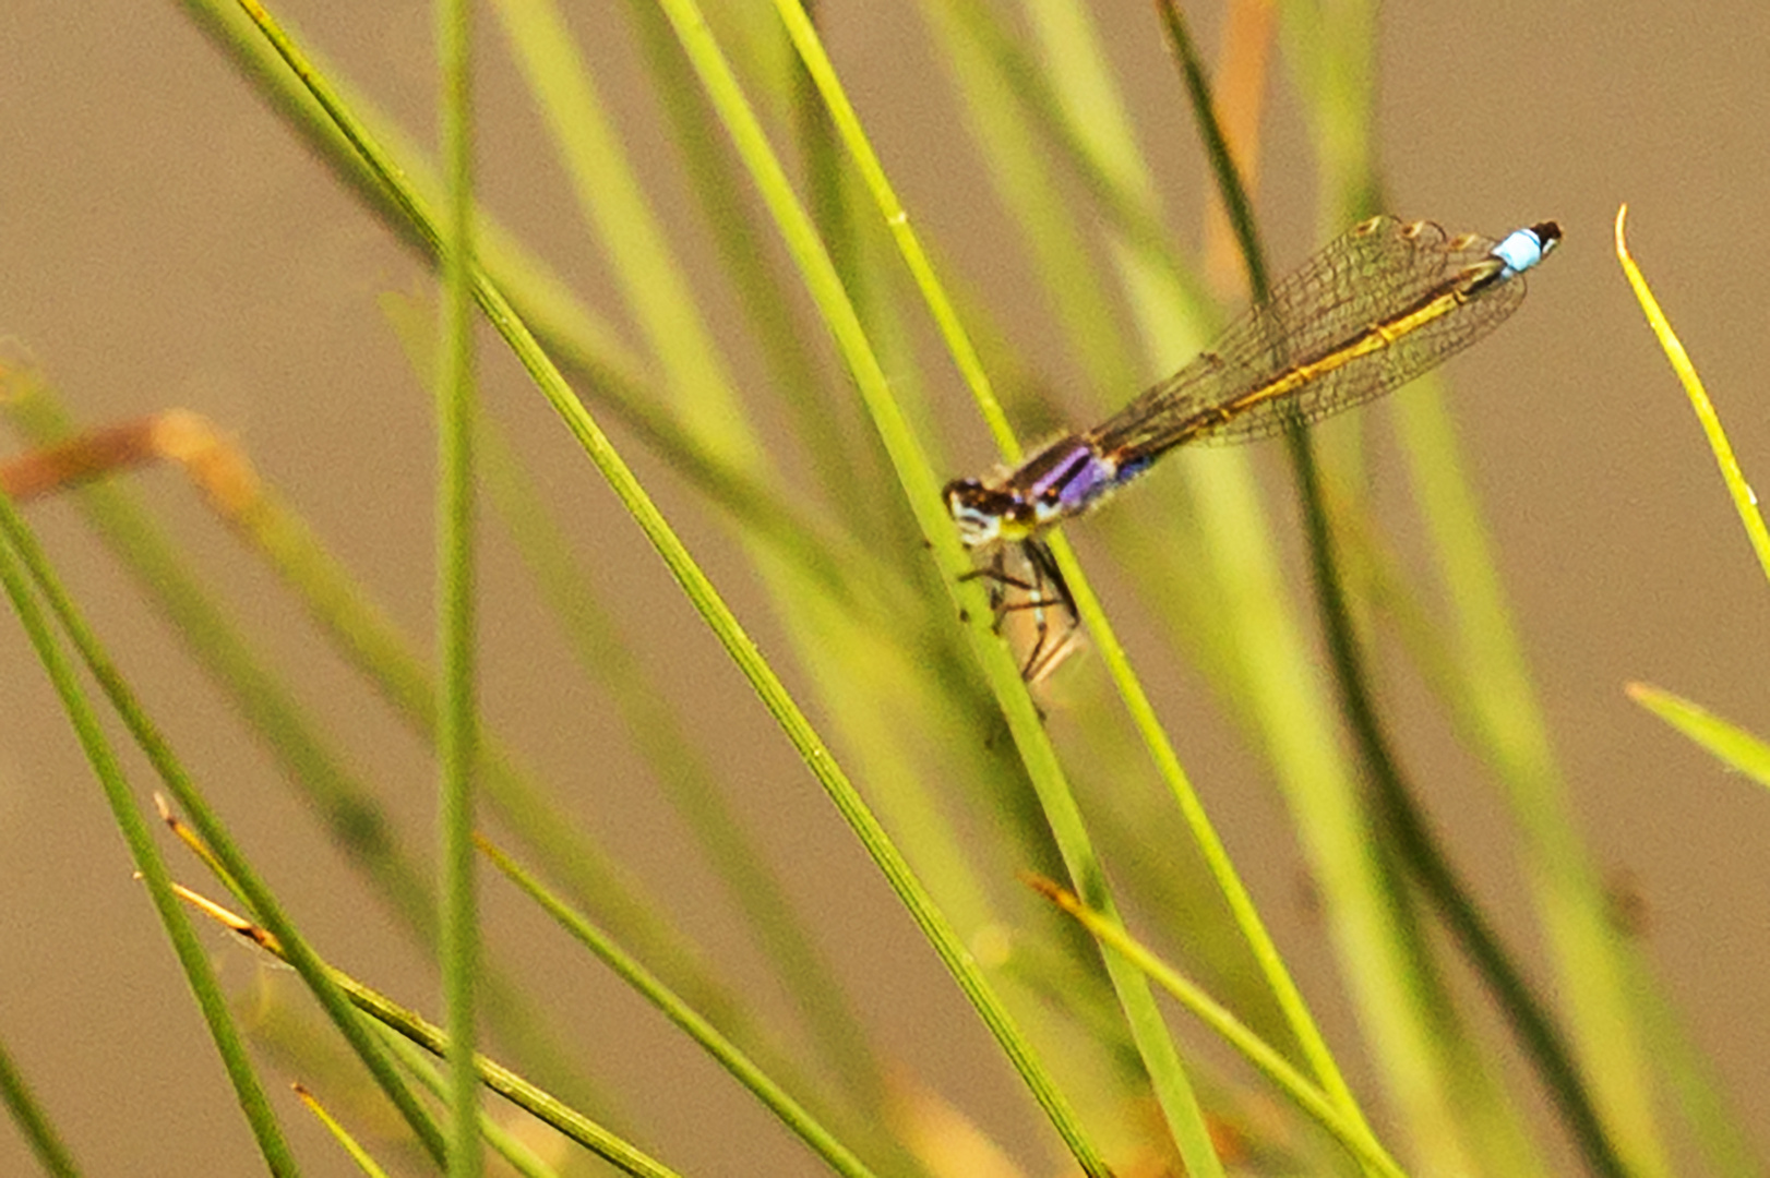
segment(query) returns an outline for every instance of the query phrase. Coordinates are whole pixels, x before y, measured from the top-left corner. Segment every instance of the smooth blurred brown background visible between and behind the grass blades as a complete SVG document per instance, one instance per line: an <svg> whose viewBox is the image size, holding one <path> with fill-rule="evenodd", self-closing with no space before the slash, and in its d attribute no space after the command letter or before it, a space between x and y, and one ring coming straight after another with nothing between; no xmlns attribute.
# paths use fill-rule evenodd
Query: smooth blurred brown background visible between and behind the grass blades
<svg viewBox="0 0 1770 1178"><path fill-rule="evenodd" d="M621 90L635 69L625 23L612 5L577 7L584 51L604 71L609 101L632 120L643 161L646 136L662 129L648 103ZM1195 32L1212 46L1218 12L1193 7ZM303 0L281 11L428 134L427 5ZM1205 177L1154 14L1142 0L1103 0L1096 11L1163 166L1175 235L1191 246ZM1023 260L991 237L998 214L970 147L952 134L945 78L922 48L913 7L835 2L827 21L835 62L912 214L968 281L1007 308L1030 363L1064 379L1066 357L1050 354L1043 308L1014 301ZM496 23L483 27L487 200L598 299L600 260ZM384 290L425 290L423 265L296 143L175 5L12 4L0 12L0 336L28 348L88 421L188 407L235 433L398 619L427 633L428 410L375 308ZM1621 693L1625 681L1650 679L1770 732L1770 587L1611 251L1611 221L1627 200L1637 258L1706 377L1747 474L1763 469L1770 7L1397 4L1381 18L1379 62L1379 152L1395 212L1492 235L1545 218L1566 230L1524 311L1451 364L1455 416L1584 830L1602 867L1644 902L1667 991L1770 1155L1770 998L1761 982L1770 968L1770 798ZM1258 205L1285 269L1324 235L1281 55L1274 78ZM681 193L662 187L658 200L699 241ZM726 759L735 805L828 936L871 1029L963 1098L1023 1162L1043 1162L1046 1130L989 1056L984 1031L637 531L496 343L483 371L487 398L540 439L533 462L573 516L604 587L628 610L630 633L658 669L710 700L699 723ZM754 373L740 380L752 403L768 400ZM959 382L950 371L942 380L942 396L965 412ZM956 449L974 465L989 458L981 426ZM658 474L657 462L630 446L628 455L643 476ZM1289 504L1281 463L1266 462L1274 502ZM1386 470L1391 495L1398 486L1398 469L1379 462L1379 497ZM138 481L358 769L427 837L432 766L423 750L177 476ZM664 479L660 492L766 644L766 617L724 532L680 485ZM405 939L361 902L267 757L74 513L51 502L32 508L32 518L156 718L310 934L336 962L435 1010ZM579 679L527 580L508 568L508 545L496 534L489 545L487 711L556 780L582 791L586 822L634 847L635 870L680 904L692 932L740 976L759 978L749 950L727 934L724 902L697 893L703 872L685 861L685 838L605 700L575 686L561 699L552 688ZM1439 725L1407 725L1428 713L1405 704L1416 685L1397 686L1402 748L1437 824L1478 886L1497 884L1510 872L1508 842L1487 784L1444 755L1450 738ZM1356 1033L1333 1001L1331 962L1308 946L1296 853L1262 835L1276 807L1266 782L1235 755L1228 729L1184 720L1186 697L1158 706L1232 851L1251 863L1281 945L1315 969L1303 982L1326 1008L1336 1045L1351 1047ZM131 768L145 792L150 776L136 761ZM196 874L177 853L173 863ZM816 1171L759 1107L575 960L506 888L487 891L499 948L550 978L581 1035L573 1049L607 1061L666 1159L694 1174ZM90 1173L257 1173L103 799L11 621L0 623L0 1035ZM1524 916L1513 895L1492 899L1501 916ZM212 941L228 976L244 983L257 964L219 934ZM1520 948L1528 955L1528 939ZM350 1173L306 1116L283 1104L308 1173ZM0 1130L0 1174L12 1173L30 1173L30 1159L14 1132Z"/></svg>

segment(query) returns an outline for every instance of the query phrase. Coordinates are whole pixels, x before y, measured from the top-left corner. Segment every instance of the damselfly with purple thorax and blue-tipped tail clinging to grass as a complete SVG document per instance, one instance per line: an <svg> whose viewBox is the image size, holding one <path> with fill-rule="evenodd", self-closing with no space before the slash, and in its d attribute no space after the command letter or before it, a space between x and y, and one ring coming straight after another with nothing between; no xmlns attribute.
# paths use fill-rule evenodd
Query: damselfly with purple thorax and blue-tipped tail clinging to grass
<svg viewBox="0 0 1770 1178"><path fill-rule="evenodd" d="M1430 221L1372 218L1273 287L1209 352L1092 430L1071 433L1018 467L947 483L947 509L966 547L995 548L998 616L1034 610L1037 644L1023 667L1048 674L1067 640L1048 646L1046 610L1073 608L1050 554L1014 545L1099 506L1186 442L1246 442L1320 421L1398 389L1497 327L1524 299L1522 274L1561 241L1543 221L1503 241L1448 235ZM1023 596L1014 600L1012 591Z"/></svg>

